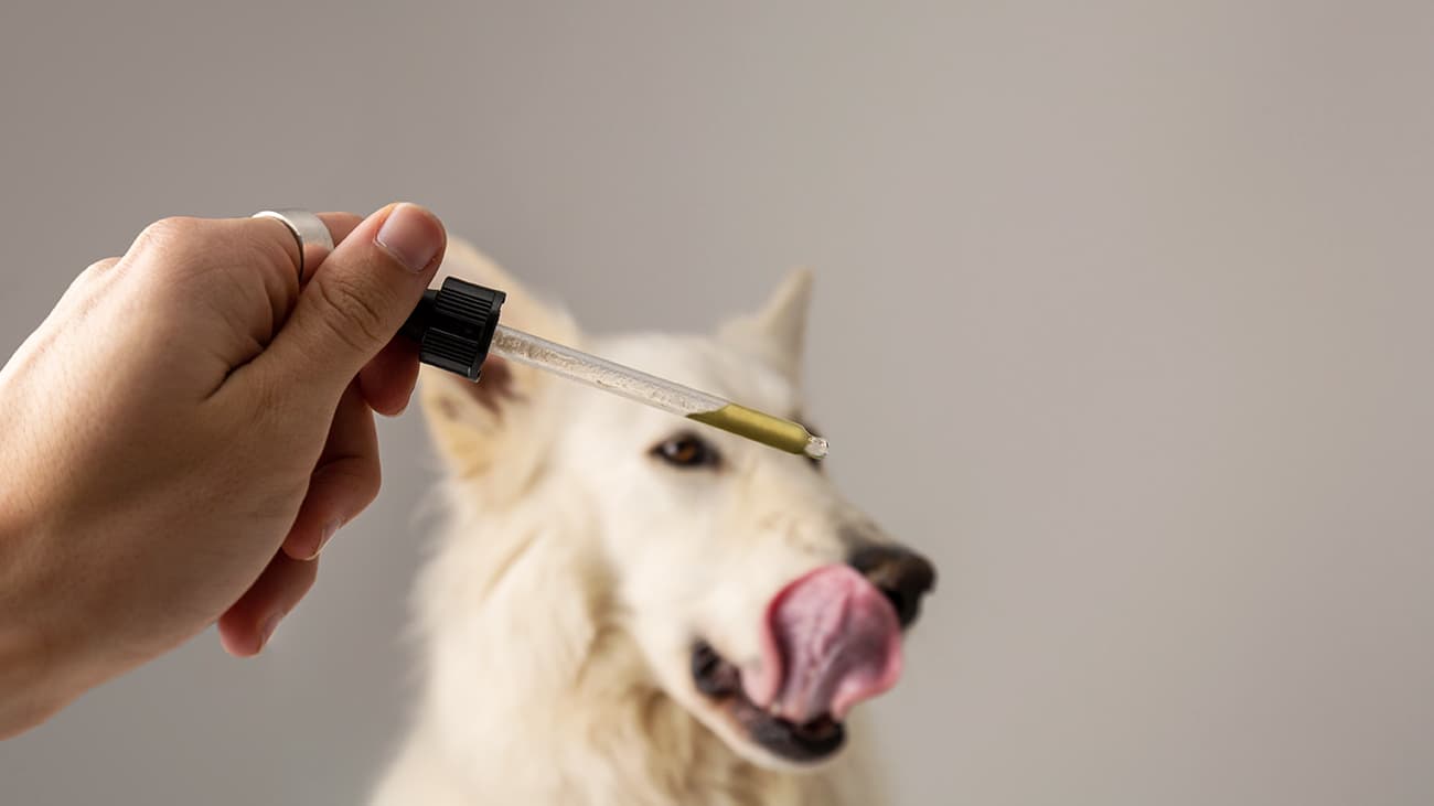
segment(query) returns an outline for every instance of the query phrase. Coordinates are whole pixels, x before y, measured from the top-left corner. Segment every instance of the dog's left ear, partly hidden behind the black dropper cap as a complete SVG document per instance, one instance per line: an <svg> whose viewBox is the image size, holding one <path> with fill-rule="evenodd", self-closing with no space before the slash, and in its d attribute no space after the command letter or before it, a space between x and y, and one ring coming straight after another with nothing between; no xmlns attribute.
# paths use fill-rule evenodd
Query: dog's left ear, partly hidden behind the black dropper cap
<svg viewBox="0 0 1434 806"><path fill-rule="evenodd" d="M562 344L581 341L578 326L566 311L533 297L466 241L449 238L439 278L446 275L506 291L500 317L506 326ZM433 442L459 476L478 476L493 465L503 453L505 435L533 416L542 390L554 380L546 373L495 356L483 363L478 383L427 366L420 377L419 399ZM521 472L509 463L503 475L513 478Z"/></svg>

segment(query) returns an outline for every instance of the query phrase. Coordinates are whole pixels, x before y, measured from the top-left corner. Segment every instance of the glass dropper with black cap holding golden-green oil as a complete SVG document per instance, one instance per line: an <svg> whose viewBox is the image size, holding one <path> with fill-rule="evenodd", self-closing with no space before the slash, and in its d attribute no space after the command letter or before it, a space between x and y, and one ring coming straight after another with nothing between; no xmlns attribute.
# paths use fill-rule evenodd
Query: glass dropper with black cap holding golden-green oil
<svg viewBox="0 0 1434 806"><path fill-rule="evenodd" d="M716 394L499 324L506 294L456 277L424 294L403 326L419 360L478 381L489 353L645 403L754 442L823 459L827 443L804 426Z"/></svg>

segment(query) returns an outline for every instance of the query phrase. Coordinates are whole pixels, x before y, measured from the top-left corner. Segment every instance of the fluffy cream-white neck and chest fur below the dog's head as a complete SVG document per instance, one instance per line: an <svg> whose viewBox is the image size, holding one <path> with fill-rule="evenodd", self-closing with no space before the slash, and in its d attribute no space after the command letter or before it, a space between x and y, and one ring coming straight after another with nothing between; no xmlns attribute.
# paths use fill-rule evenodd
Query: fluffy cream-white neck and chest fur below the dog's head
<svg viewBox="0 0 1434 806"><path fill-rule="evenodd" d="M655 686L571 489L496 513L450 492L417 589L417 719L377 805L872 803L852 749L766 770Z"/></svg>

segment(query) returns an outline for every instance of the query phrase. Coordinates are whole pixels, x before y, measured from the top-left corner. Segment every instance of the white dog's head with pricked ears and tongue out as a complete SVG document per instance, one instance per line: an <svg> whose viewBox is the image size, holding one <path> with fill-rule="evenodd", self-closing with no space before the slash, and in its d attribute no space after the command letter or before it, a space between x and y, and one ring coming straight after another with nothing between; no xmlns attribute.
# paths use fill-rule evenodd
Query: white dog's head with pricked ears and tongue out
<svg viewBox="0 0 1434 806"><path fill-rule="evenodd" d="M445 268L506 290L505 324L803 419L806 272L713 336L594 340L462 242ZM766 766L826 760L847 710L896 683L902 631L935 572L819 463L496 359L478 384L424 371L462 495L502 509L558 488L582 502L581 539L609 579L605 618L733 750Z"/></svg>

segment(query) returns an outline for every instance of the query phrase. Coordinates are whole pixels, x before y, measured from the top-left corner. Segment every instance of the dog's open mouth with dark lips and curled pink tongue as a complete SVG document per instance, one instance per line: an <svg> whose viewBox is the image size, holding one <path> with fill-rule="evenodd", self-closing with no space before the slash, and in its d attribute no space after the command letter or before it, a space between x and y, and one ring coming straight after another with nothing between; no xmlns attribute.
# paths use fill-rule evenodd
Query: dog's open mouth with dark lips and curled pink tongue
<svg viewBox="0 0 1434 806"><path fill-rule="evenodd" d="M901 677L901 624L888 597L846 565L826 565L782 589L761 625L761 658L746 668L706 641L693 683L751 741L787 762L815 763L846 740L856 703Z"/></svg>

